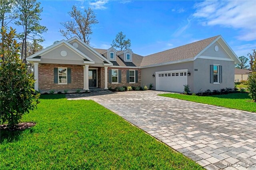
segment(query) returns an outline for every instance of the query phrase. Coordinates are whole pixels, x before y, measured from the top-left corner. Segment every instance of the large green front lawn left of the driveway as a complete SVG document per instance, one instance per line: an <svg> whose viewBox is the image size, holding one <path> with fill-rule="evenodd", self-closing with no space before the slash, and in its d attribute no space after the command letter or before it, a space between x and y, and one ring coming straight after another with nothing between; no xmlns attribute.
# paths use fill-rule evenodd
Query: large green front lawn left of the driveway
<svg viewBox="0 0 256 170"><path fill-rule="evenodd" d="M1 130L1 169L203 169L94 101L41 98L36 126Z"/></svg>

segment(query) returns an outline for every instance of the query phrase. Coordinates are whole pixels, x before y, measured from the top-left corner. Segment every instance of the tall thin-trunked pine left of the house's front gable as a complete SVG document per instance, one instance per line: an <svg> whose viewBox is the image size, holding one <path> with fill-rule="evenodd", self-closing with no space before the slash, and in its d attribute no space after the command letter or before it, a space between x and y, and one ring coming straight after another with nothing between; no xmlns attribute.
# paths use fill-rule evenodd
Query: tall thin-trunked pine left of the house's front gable
<svg viewBox="0 0 256 170"><path fill-rule="evenodd" d="M21 59L24 54L24 63L26 63L27 40L43 42L42 33L47 29L39 23L40 13L43 11L43 8L40 8L40 2L36 2L36 0L16 0L16 2L19 21L15 23L17 26L23 27L23 32L18 37L22 39Z"/></svg>

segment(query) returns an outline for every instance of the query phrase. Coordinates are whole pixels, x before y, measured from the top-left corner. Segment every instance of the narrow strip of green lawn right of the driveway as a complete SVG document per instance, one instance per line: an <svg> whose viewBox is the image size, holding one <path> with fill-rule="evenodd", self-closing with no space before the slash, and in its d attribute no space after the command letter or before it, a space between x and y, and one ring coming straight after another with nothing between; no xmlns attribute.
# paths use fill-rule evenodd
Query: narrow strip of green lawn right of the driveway
<svg viewBox="0 0 256 170"><path fill-rule="evenodd" d="M256 112L256 103L250 99L248 93L232 93L228 95L214 96L192 96L170 93L161 94L160 96L182 99L187 101L194 101L197 103L204 103L215 106L222 106L242 111Z"/></svg>

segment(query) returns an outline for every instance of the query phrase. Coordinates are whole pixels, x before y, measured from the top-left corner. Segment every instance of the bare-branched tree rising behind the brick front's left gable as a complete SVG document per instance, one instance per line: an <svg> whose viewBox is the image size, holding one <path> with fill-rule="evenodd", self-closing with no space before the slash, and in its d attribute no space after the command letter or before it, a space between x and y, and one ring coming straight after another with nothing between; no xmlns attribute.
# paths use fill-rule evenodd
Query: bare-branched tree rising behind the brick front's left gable
<svg viewBox="0 0 256 170"><path fill-rule="evenodd" d="M85 9L83 14L80 10L77 10L76 6L72 6L72 10L68 14L74 20L60 23L66 29L60 29L62 36L69 39L72 35L76 35L80 40L89 45L92 25L98 24L96 14L94 14L91 8Z"/></svg>

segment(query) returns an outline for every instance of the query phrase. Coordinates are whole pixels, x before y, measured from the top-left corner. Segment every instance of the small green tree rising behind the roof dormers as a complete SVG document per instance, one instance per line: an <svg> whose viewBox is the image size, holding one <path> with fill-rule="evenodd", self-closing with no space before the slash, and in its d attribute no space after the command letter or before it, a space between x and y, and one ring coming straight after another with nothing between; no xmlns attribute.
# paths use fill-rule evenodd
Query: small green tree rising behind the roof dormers
<svg viewBox="0 0 256 170"><path fill-rule="evenodd" d="M116 39L112 41L112 47L120 48L121 51L131 47L131 40L128 38L126 39L126 35L123 32L118 32L116 34Z"/></svg>

